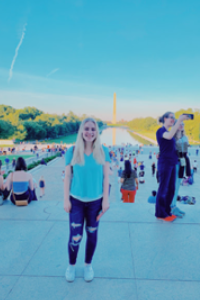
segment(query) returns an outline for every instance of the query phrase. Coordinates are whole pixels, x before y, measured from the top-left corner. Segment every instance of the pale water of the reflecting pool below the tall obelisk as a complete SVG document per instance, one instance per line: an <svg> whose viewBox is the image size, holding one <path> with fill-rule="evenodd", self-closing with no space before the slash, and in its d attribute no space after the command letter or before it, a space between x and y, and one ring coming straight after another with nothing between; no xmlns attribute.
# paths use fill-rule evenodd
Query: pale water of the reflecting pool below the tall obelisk
<svg viewBox="0 0 200 300"><path fill-rule="evenodd" d="M106 145L121 145L122 143L130 143L132 145L139 144L139 142L123 128L107 128L103 130L101 142Z"/></svg>

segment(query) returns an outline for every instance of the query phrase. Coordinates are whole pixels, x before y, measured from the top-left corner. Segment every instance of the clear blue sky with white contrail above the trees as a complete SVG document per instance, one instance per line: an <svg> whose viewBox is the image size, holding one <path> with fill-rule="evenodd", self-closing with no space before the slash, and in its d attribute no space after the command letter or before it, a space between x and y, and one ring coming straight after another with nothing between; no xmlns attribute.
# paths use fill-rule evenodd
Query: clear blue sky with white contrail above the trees
<svg viewBox="0 0 200 300"><path fill-rule="evenodd" d="M0 2L0 103L112 119L200 108L200 1ZM17 53L16 53L17 52Z"/></svg>

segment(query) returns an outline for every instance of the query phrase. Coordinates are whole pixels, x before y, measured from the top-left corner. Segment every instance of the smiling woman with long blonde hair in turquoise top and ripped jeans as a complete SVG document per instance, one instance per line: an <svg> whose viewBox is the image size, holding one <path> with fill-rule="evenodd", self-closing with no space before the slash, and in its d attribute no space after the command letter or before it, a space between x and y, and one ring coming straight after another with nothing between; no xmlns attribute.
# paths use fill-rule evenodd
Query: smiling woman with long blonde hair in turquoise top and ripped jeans
<svg viewBox="0 0 200 300"><path fill-rule="evenodd" d="M75 264L86 223L84 279L94 277L92 258L97 245L100 217L109 209L108 149L101 145L98 124L93 118L82 121L75 147L65 155L64 210L69 214L69 266L65 277L75 279ZM72 177L73 172L73 177ZM72 177L72 180L71 180Z"/></svg>

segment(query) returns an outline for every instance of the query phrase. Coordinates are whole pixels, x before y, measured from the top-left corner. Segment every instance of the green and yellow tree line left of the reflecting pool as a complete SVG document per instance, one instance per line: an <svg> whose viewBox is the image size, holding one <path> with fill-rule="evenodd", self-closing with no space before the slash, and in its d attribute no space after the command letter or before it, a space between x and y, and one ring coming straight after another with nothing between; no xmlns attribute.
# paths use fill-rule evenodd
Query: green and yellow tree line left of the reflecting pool
<svg viewBox="0 0 200 300"><path fill-rule="evenodd" d="M78 117L72 111L57 115L44 113L35 107L15 109L0 105L0 139L26 141L65 136L77 132L86 117L86 114ZM104 124L100 119L96 121L99 127Z"/></svg>

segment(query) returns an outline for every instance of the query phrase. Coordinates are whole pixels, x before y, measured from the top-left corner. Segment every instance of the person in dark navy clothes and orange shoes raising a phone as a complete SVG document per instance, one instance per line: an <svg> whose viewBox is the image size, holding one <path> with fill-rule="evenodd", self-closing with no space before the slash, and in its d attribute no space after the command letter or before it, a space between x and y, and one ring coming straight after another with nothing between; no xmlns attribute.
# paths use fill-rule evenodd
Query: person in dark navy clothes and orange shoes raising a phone
<svg viewBox="0 0 200 300"><path fill-rule="evenodd" d="M184 120L188 120L188 116L181 115L174 125L174 113L166 112L159 118L159 122L163 123L163 126L156 132L159 145L159 188L156 197L155 216L167 222L176 219L176 216L171 213L171 203L175 192L176 165L178 163L174 135ZM172 129L169 131L170 127Z"/></svg>

